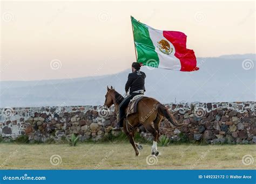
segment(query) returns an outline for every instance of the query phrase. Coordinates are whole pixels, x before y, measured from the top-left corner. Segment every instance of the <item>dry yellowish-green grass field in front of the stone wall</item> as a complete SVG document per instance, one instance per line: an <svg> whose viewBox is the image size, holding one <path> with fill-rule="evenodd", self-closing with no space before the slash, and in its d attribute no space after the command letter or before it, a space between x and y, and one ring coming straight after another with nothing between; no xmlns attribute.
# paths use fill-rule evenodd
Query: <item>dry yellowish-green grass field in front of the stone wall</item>
<svg viewBox="0 0 256 184"><path fill-rule="evenodd" d="M151 145L144 144L135 157L129 143L0 144L1 169L254 169L242 157L256 157L255 145L169 145L148 158ZM55 156L55 155L59 156ZM53 156L52 156L53 155ZM52 159L50 159L52 157ZM54 158L57 159L54 159ZM60 162L60 158L61 162ZM149 160L151 159L151 160ZM50 161L51 160L51 161ZM149 164L147 164L147 161ZM52 162L52 164L51 164Z"/></svg>

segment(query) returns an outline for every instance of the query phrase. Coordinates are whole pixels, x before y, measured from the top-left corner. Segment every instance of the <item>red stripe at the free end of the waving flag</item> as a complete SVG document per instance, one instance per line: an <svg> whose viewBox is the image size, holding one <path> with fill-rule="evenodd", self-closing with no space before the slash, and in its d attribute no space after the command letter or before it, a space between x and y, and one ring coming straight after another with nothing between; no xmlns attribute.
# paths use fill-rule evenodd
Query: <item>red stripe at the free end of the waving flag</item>
<svg viewBox="0 0 256 184"><path fill-rule="evenodd" d="M183 72L198 70L197 59L194 51L186 48L187 36L179 31L163 31L163 36L169 40L175 48L175 56L180 60Z"/></svg>

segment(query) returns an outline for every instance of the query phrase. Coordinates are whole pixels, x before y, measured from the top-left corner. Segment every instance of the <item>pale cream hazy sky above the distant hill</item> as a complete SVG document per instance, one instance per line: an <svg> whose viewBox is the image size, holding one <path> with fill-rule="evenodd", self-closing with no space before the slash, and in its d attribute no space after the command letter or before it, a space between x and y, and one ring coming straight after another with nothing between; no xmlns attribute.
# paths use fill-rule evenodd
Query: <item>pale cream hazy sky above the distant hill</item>
<svg viewBox="0 0 256 184"><path fill-rule="evenodd" d="M117 73L135 59L130 15L181 31L197 57L255 53L254 2L2 2L1 80ZM199 70L200 71L200 70Z"/></svg>

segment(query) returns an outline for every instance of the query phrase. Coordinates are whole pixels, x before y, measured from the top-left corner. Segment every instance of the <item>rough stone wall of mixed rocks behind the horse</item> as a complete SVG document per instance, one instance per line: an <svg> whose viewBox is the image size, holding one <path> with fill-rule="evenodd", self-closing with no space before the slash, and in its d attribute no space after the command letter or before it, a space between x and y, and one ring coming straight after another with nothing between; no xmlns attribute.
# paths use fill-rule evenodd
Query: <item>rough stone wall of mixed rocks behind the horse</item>
<svg viewBox="0 0 256 184"><path fill-rule="evenodd" d="M172 141L205 141L206 143L256 143L255 102L183 103L166 104L182 128L174 128L166 120L160 124L160 133ZM0 137L4 141L28 136L29 141L69 138L72 133L81 141L100 140L116 124L114 109L102 107L40 107L0 109ZM143 126L140 136L152 139Z"/></svg>

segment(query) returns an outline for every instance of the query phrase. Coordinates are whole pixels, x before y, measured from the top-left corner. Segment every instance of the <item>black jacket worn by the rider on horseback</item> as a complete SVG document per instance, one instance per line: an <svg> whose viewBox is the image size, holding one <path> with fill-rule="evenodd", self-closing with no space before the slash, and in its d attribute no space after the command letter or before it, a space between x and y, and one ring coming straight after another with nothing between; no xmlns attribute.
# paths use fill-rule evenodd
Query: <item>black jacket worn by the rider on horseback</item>
<svg viewBox="0 0 256 184"><path fill-rule="evenodd" d="M130 73L128 75L128 80L125 84L125 91L127 91L130 88L130 93L137 90L145 90L145 78L146 74L144 72L140 72L140 70L135 70L134 72Z"/></svg>

